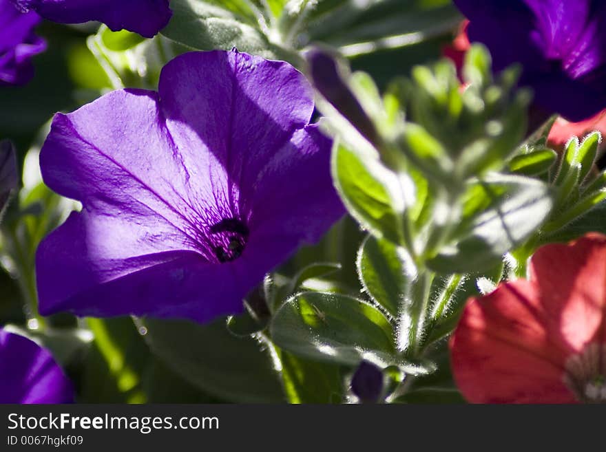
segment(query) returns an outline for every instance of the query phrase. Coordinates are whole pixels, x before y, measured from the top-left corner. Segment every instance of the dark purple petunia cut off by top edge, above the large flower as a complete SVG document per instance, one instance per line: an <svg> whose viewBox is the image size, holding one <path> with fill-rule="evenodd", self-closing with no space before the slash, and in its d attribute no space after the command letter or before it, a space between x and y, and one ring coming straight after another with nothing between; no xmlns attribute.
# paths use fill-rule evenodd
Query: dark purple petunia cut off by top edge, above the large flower
<svg viewBox="0 0 606 452"><path fill-rule="evenodd" d="M129 30L151 38L165 28L169 0L11 0L24 11L60 23L99 21L114 31Z"/></svg>

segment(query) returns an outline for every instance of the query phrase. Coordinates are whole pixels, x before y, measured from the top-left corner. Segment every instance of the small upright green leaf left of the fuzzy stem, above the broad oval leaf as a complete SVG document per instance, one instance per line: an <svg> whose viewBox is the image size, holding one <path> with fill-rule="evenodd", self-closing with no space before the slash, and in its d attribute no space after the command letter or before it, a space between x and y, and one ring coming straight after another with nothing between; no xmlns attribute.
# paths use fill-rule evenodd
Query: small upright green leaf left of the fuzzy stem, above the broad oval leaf
<svg viewBox="0 0 606 452"><path fill-rule="evenodd" d="M359 248L357 270L370 297L397 317L410 281L417 276L408 252L390 241L368 235Z"/></svg>

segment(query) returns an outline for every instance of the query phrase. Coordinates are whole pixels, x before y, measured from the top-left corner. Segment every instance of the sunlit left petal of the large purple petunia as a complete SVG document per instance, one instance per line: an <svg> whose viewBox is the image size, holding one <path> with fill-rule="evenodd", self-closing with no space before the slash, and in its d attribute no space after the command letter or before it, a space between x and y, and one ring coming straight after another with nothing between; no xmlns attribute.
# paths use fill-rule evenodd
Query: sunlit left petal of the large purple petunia
<svg viewBox="0 0 606 452"><path fill-rule="evenodd" d="M51 189L80 200L92 215L115 219L129 246L104 248L112 259L196 250L203 239L196 207L206 207L201 203L212 193L202 177L200 184L189 183L187 162L169 136L157 97L115 91L73 114L57 114L40 155Z"/></svg>

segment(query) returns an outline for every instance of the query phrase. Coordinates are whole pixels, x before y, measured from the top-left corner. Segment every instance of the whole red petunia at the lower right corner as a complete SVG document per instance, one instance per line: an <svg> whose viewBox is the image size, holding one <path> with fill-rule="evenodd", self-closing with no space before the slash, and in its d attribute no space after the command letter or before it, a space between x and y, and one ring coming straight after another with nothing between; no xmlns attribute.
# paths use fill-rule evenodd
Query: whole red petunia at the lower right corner
<svg viewBox="0 0 606 452"><path fill-rule="evenodd" d="M539 248L530 281L471 299L450 341L474 403L606 402L606 236Z"/></svg>

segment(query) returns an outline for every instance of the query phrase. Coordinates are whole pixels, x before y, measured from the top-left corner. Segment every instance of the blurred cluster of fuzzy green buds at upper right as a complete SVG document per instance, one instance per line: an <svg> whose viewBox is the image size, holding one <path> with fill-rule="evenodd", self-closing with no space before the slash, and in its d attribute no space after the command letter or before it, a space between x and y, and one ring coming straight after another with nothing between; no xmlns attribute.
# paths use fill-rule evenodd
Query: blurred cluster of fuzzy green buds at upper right
<svg viewBox="0 0 606 452"><path fill-rule="evenodd" d="M450 61L413 69L409 122L397 142L435 186L455 193L471 177L500 170L519 148L530 101L527 90L511 85L515 68L492 79L490 54L482 45L468 51L465 70L472 83L461 92Z"/></svg>

